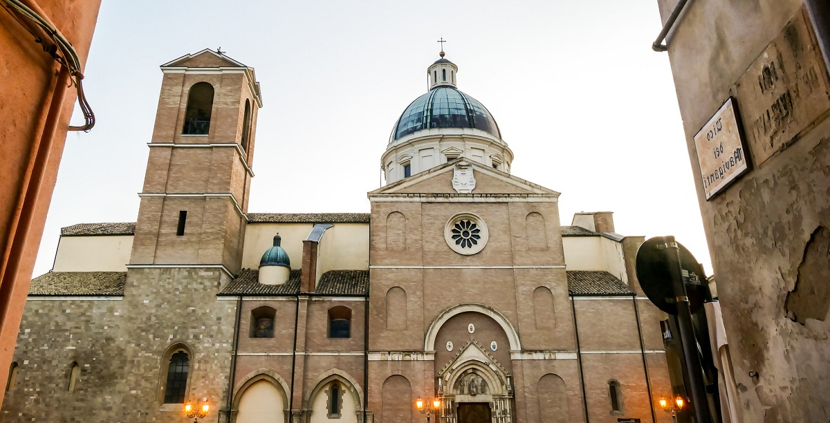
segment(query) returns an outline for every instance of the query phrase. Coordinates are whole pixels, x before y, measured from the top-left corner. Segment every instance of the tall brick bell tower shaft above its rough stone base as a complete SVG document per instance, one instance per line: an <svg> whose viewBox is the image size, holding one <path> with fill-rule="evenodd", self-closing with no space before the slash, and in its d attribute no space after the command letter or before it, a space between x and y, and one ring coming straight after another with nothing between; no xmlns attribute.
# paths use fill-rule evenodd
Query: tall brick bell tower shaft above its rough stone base
<svg viewBox="0 0 830 423"><path fill-rule="evenodd" d="M161 66L131 267L240 269L262 100L253 68L222 53Z"/></svg>

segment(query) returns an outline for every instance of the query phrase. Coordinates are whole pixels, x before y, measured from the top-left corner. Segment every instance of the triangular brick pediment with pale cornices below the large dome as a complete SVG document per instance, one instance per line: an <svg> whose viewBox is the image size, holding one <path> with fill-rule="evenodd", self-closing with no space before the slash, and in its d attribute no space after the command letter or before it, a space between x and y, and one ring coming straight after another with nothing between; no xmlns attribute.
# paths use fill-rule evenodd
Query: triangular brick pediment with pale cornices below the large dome
<svg viewBox="0 0 830 423"><path fill-rule="evenodd" d="M469 167L472 169L473 177L476 179L476 187L470 193L459 193L452 187L454 171L458 167ZM559 197L559 192L542 187L533 182L525 181L509 173L490 168L484 164L474 162L468 158L457 158L451 162L442 164L412 177L407 177L398 182L391 183L369 192L369 198L384 197L388 195L406 196L413 194L433 194L448 196L469 196L476 195L498 197L498 196L522 196L534 197Z"/></svg>

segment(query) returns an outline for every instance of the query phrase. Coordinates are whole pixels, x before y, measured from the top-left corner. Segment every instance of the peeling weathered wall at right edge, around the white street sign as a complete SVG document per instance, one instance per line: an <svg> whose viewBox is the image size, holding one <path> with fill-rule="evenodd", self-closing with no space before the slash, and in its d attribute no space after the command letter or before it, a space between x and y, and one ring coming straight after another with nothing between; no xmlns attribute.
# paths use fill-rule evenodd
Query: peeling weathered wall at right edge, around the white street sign
<svg viewBox="0 0 830 423"><path fill-rule="evenodd" d="M658 3L665 20L676 0ZM800 0L686 9L668 55L740 412L745 421L830 421L830 96L818 41ZM707 202L693 137L730 95L750 169Z"/></svg>

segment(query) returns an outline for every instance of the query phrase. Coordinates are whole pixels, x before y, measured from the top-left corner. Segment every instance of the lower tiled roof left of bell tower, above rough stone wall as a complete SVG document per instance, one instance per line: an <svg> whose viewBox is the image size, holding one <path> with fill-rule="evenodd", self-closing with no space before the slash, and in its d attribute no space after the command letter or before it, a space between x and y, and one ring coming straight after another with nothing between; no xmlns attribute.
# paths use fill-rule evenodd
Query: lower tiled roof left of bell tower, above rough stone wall
<svg viewBox="0 0 830 423"><path fill-rule="evenodd" d="M32 280L29 296L120 296L127 272L49 272Z"/></svg>

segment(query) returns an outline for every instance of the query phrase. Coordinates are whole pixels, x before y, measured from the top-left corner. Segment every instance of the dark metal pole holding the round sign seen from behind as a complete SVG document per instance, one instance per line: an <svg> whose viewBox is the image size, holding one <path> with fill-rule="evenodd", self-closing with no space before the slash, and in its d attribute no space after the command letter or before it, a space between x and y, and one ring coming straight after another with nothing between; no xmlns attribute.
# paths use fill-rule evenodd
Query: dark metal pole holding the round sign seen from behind
<svg viewBox="0 0 830 423"><path fill-rule="evenodd" d="M689 372L689 395L691 405L695 407L695 421L708 423L711 421L706 400L706 385L703 383L701 357L697 353L695 328L691 324L691 309L689 296L686 294L686 285L683 283L683 274L680 266L680 249L674 236L663 236L666 246L666 260L671 274L672 290L677 304L677 323L680 327L683 355Z"/></svg>

